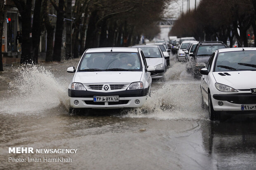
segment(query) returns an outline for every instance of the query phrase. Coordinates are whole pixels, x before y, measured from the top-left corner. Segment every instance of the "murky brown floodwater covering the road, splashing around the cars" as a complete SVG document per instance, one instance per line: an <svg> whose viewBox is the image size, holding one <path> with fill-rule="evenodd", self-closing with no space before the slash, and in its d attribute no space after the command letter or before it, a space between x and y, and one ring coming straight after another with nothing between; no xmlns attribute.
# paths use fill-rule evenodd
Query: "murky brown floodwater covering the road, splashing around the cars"
<svg viewBox="0 0 256 170"><path fill-rule="evenodd" d="M210 122L199 79L175 55L142 108L69 115L73 74L66 68L77 64L5 67L0 73L0 169L256 169L256 116ZM33 147L34 153L9 153L9 147ZM69 162L47 161L62 157Z"/></svg>

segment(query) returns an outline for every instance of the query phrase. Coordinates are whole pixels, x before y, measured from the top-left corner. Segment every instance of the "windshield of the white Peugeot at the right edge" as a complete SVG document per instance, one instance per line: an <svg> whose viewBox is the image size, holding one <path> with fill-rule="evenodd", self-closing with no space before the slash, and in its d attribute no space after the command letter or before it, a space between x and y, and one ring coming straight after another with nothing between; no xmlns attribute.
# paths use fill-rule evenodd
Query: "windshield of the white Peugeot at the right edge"
<svg viewBox="0 0 256 170"><path fill-rule="evenodd" d="M256 71L256 51L232 51L219 53L215 71Z"/></svg>

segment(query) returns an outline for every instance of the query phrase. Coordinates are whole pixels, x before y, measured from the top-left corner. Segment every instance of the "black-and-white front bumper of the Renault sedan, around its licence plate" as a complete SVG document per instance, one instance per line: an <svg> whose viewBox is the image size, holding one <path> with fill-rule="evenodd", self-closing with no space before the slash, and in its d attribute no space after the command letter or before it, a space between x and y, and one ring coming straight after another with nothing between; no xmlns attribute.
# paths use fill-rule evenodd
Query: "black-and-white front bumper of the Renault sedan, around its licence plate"
<svg viewBox="0 0 256 170"><path fill-rule="evenodd" d="M92 92L69 89L69 104L72 108L138 108L147 99L148 89L124 90L119 92ZM94 102L93 96L119 96L119 102ZM140 100L139 104L135 100ZM78 100L77 105L74 101Z"/></svg>

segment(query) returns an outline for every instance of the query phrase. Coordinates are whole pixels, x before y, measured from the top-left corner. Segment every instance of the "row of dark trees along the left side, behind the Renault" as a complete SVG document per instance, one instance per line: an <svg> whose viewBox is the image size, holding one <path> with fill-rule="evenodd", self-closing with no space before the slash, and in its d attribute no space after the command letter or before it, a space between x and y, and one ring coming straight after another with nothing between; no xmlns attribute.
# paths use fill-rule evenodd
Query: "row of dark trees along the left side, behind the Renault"
<svg viewBox="0 0 256 170"><path fill-rule="evenodd" d="M0 0L0 10L4 8L3 1ZM37 64L40 35L43 30L47 31L46 61L60 61L64 18L66 9L71 6L71 3L67 6L66 2L71 0L35 0L33 25L32 0L13 2L19 10L22 23L20 63ZM78 57L79 53L83 53L87 48L137 44L141 34L149 38L154 37L159 33L155 23L161 19L170 2L171 0L76 0L72 6L72 54L67 56ZM49 18L50 6L57 11L56 24ZM0 14L3 13L0 11ZM0 16L0 28L4 21L4 17Z"/></svg>

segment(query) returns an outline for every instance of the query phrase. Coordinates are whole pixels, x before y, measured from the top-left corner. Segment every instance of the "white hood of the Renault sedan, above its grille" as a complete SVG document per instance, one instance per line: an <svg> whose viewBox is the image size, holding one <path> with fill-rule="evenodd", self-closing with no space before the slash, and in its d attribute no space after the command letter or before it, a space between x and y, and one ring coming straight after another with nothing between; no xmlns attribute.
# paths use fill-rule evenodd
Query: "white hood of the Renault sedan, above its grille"
<svg viewBox="0 0 256 170"><path fill-rule="evenodd" d="M77 72L77 83L132 83L140 81L142 71L93 71Z"/></svg>

